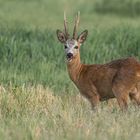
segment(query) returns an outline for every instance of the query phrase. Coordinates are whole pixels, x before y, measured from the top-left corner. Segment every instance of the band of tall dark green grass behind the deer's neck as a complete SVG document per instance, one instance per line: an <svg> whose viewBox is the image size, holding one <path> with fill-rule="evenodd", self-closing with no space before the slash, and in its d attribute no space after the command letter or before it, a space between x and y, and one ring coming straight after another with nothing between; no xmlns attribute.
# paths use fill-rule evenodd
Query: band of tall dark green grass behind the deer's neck
<svg viewBox="0 0 140 140"><path fill-rule="evenodd" d="M82 61L91 64L127 56L139 58L139 29L123 25L91 30L87 42L81 47ZM69 84L64 49L54 35L55 32L48 29L2 28L1 83L12 82L16 86L42 84L57 93L71 93L73 85Z"/></svg>

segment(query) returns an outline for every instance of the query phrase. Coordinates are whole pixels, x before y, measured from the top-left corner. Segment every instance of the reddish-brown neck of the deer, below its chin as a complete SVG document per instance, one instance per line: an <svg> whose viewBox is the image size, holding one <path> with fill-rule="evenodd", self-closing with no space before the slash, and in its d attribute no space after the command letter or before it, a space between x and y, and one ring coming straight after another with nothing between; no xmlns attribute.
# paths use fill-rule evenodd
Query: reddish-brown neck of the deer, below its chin
<svg viewBox="0 0 140 140"><path fill-rule="evenodd" d="M67 68L71 80L76 84L82 69L82 64L80 61L80 53L71 61L67 63Z"/></svg>

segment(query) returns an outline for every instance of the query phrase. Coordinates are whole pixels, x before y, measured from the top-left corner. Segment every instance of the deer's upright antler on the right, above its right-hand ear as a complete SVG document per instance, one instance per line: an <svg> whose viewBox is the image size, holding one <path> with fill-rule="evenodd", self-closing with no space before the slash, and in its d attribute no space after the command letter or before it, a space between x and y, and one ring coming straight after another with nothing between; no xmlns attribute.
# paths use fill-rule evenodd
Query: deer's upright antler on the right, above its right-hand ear
<svg viewBox="0 0 140 140"><path fill-rule="evenodd" d="M73 29L73 38L76 39L77 38L77 28L80 22L80 12L78 11L76 18L75 18L75 25L74 25L74 29Z"/></svg>

